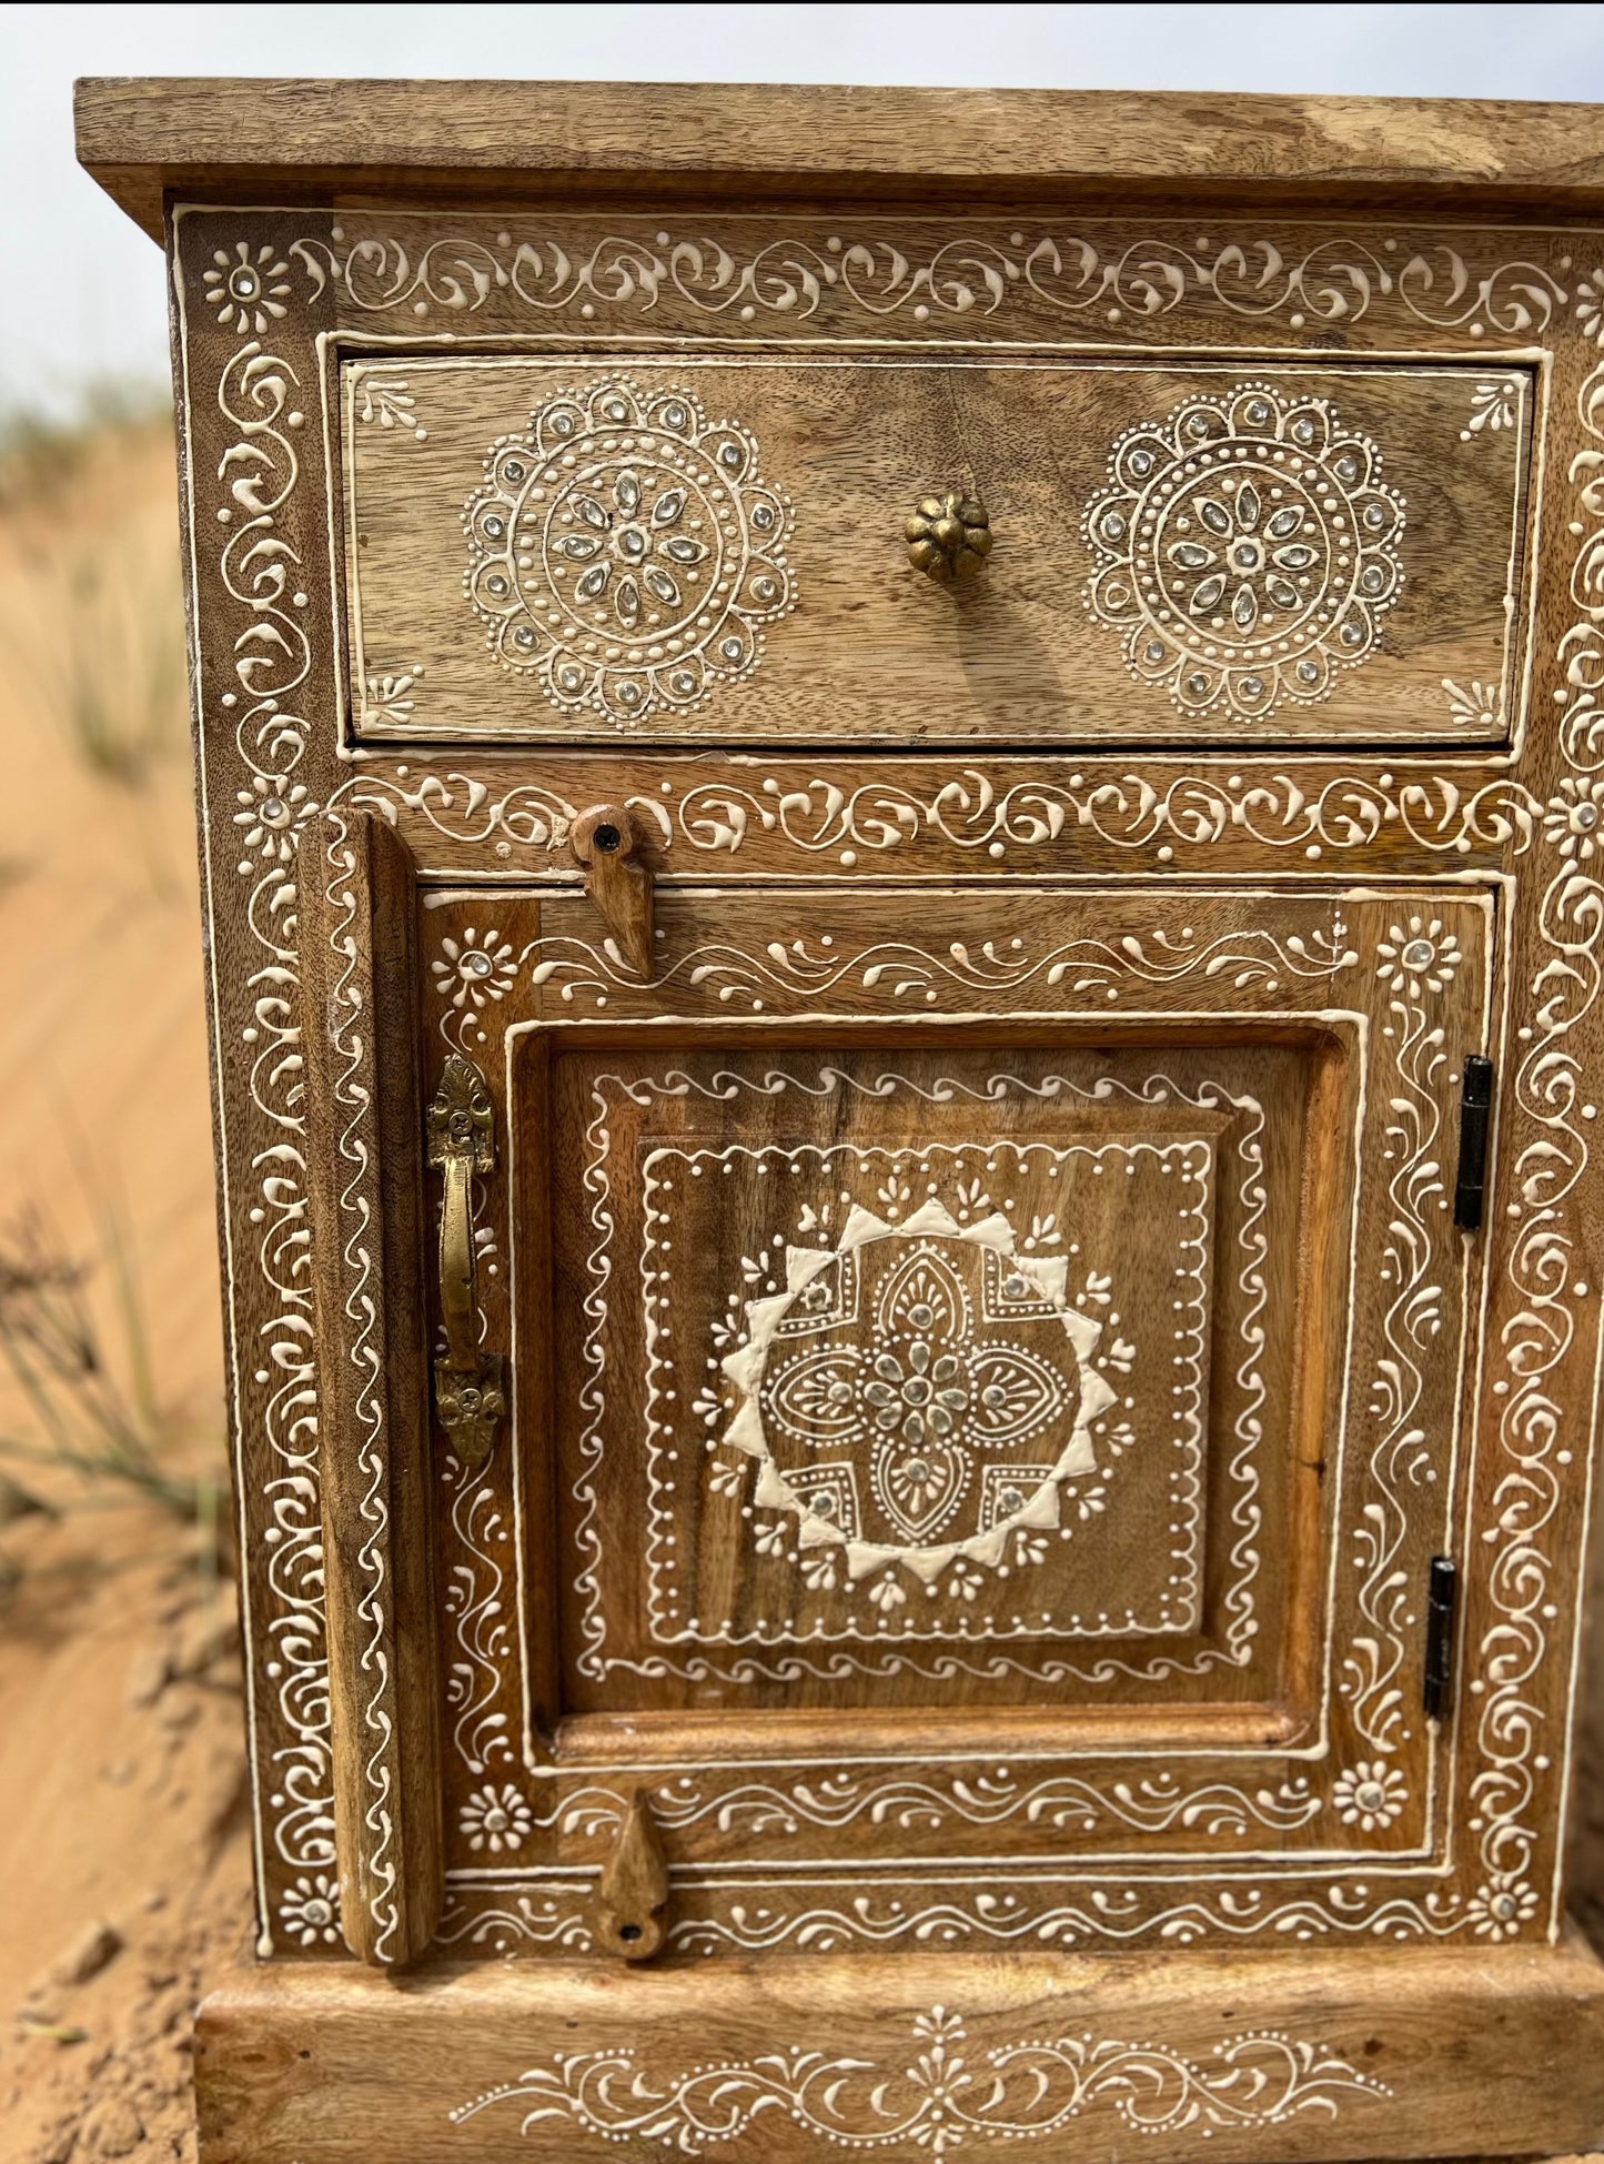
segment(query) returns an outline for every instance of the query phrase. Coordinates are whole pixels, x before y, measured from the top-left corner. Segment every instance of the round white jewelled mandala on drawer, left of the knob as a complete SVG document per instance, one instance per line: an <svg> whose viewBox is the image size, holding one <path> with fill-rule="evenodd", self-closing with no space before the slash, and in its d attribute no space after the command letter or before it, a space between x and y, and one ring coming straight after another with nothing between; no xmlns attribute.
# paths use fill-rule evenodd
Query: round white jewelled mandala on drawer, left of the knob
<svg viewBox="0 0 1604 2164"><path fill-rule="evenodd" d="M758 441L684 390L558 392L463 506L465 589L500 662L565 714L688 712L797 606L792 511Z"/></svg>

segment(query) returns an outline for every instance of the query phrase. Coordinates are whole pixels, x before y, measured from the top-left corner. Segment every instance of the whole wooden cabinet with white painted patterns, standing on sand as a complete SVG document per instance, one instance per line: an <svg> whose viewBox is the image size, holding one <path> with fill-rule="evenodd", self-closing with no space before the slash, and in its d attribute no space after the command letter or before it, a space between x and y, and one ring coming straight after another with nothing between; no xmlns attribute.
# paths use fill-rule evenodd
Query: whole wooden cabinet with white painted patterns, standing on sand
<svg viewBox="0 0 1604 2164"><path fill-rule="evenodd" d="M1604 169L1271 110L82 93L184 424L208 2164L1600 2136Z"/></svg>

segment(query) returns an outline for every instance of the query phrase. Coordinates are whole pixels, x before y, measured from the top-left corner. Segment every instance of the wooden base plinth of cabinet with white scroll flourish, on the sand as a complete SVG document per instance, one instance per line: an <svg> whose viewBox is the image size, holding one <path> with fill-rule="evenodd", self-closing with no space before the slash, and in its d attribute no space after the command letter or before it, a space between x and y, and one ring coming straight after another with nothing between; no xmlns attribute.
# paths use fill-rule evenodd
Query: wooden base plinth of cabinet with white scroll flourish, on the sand
<svg viewBox="0 0 1604 2164"><path fill-rule="evenodd" d="M208 2000L195 2082L219 2164L1517 2155L1598 2140L1604 1987L1580 1945L318 1967Z"/></svg>

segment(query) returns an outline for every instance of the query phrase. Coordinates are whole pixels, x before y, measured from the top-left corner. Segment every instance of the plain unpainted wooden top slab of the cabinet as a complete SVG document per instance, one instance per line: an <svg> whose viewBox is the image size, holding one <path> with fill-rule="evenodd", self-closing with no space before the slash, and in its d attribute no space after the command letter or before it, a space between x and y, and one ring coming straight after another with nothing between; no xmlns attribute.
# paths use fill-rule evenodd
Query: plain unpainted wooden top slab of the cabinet
<svg viewBox="0 0 1604 2164"><path fill-rule="evenodd" d="M1600 108L1582 104L97 76L76 128L82 164L158 238L165 197L1604 208Z"/></svg>

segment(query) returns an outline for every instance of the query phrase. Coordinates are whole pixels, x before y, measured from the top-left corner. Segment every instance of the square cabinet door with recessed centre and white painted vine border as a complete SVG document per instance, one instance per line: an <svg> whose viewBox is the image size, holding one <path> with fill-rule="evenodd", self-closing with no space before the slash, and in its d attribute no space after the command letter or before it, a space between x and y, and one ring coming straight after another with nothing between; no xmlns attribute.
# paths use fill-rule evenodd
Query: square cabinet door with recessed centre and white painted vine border
<svg viewBox="0 0 1604 2164"><path fill-rule="evenodd" d="M582 898L426 894L507 1400L435 1439L446 1943L604 1943L636 1796L682 1952L1429 1883L1494 937L1442 889L662 889L641 978Z"/></svg>

